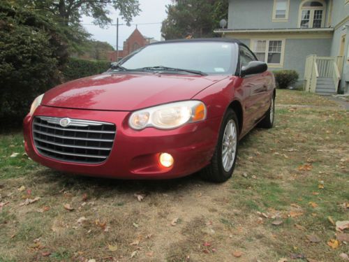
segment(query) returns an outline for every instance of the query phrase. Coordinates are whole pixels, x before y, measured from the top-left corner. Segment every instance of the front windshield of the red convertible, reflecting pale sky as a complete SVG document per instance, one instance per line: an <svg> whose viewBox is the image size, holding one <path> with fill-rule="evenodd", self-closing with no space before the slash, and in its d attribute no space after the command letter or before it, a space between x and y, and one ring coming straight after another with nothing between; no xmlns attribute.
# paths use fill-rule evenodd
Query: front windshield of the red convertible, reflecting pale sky
<svg viewBox="0 0 349 262"><path fill-rule="evenodd" d="M179 68L209 75L235 73L237 45L225 42L184 42L147 45L119 63L124 70ZM176 72L177 73L177 72ZM181 71L180 73L190 73Z"/></svg>

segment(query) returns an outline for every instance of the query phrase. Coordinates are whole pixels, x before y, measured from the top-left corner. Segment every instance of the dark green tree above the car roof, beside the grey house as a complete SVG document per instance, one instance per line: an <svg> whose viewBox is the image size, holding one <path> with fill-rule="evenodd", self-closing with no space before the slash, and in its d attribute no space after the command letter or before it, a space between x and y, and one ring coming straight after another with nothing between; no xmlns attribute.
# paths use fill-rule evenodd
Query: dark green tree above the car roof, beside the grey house
<svg viewBox="0 0 349 262"><path fill-rule="evenodd" d="M172 0L161 33L166 39L212 37L219 21L228 17L227 0Z"/></svg>

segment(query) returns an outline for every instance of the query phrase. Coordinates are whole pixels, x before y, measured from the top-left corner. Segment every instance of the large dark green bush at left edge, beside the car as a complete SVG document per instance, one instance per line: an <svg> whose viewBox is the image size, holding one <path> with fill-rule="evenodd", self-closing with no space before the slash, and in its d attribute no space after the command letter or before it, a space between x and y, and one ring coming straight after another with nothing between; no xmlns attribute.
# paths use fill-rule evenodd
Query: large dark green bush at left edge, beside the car
<svg viewBox="0 0 349 262"><path fill-rule="evenodd" d="M51 20L0 3L0 119L22 122L34 98L61 82L66 48Z"/></svg>

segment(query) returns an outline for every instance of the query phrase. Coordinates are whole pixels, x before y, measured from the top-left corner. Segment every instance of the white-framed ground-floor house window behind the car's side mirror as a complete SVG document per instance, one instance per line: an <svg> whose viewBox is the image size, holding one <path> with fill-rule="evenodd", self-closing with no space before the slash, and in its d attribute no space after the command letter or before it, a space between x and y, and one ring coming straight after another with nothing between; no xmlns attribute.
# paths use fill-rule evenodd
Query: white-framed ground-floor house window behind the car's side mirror
<svg viewBox="0 0 349 262"><path fill-rule="evenodd" d="M264 61L271 66L281 66L284 43L283 40L255 40L253 51L259 61Z"/></svg>

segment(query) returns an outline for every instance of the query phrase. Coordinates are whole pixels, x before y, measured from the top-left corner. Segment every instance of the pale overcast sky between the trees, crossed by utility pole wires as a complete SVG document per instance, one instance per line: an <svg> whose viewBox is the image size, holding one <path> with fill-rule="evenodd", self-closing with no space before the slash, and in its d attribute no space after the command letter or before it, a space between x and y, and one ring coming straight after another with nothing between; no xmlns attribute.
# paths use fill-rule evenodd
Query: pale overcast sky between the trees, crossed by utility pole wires
<svg viewBox="0 0 349 262"><path fill-rule="evenodd" d="M140 1L140 15L133 18L131 24L138 24L138 30L143 36L153 37L156 40L161 38L161 22L166 18L165 6L171 3L171 0L139 0ZM111 10L111 17L114 20L113 24L117 23L118 11ZM98 26L92 25L93 19L91 17L82 17L82 24L92 34L92 38L98 41L105 41L110 43L114 48L117 45L117 28L110 26L101 29ZM144 24L144 23L159 23L159 24ZM126 24L121 17L119 17L119 24ZM130 36L135 29L135 25L127 27L126 25L119 27L119 50L122 49L124 41Z"/></svg>

